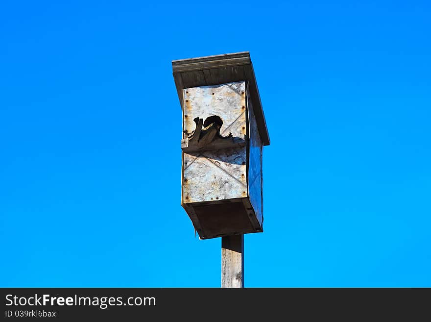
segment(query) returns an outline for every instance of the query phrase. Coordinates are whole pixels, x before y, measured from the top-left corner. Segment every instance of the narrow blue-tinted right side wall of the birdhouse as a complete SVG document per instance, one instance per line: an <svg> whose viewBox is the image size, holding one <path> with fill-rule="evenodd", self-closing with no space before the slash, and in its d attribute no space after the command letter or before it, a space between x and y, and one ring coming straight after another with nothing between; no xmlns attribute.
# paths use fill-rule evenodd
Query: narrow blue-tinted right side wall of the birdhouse
<svg viewBox="0 0 431 322"><path fill-rule="evenodd" d="M261 227L263 223L262 208L262 141L259 135L251 99L247 100L250 153L248 161L248 194Z"/></svg>

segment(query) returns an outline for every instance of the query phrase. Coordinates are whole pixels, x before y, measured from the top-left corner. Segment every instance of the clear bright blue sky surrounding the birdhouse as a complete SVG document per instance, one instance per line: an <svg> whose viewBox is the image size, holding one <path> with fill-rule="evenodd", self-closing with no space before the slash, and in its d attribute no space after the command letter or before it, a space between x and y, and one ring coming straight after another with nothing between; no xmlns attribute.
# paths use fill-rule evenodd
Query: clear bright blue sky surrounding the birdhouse
<svg viewBox="0 0 431 322"><path fill-rule="evenodd" d="M171 60L244 50L271 137L245 285L431 286L429 1L144 2L2 2L0 286L219 287Z"/></svg>

